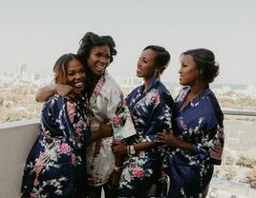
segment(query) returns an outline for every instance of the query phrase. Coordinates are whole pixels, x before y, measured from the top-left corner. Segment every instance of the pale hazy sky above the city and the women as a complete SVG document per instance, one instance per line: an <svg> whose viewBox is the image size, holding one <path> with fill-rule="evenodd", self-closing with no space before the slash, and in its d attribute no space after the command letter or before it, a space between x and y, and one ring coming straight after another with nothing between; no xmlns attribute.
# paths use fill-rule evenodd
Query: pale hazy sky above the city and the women
<svg viewBox="0 0 256 198"><path fill-rule="evenodd" d="M183 51L205 48L220 64L214 83L256 85L255 0L0 0L0 27L1 71L51 75L93 31L116 42L113 76L136 76L141 50L160 45L171 54L162 81L179 81Z"/></svg>

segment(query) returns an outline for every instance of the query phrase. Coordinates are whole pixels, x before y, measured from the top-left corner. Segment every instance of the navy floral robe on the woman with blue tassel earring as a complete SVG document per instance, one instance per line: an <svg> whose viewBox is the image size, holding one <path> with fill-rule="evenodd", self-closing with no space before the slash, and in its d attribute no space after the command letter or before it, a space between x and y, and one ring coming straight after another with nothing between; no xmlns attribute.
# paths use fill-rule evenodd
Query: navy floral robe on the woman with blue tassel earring
<svg viewBox="0 0 256 198"><path fill-rule="evenodd" d="M144 86L134 89L126 98L131 111L137 135L127 140L129 145L158 140L157 132L171 130L171 109L173 99L169 91L158 81L153 80L151 87L143 92ZM166 184L163 171L160 171L164 152L152 148L127 157L120 177L118 197L145 197L152 184ZM158 187L160 191L160 187ZM166 188L165 188L166 190ZM164 197L166 191L161 189Z"/></svg>

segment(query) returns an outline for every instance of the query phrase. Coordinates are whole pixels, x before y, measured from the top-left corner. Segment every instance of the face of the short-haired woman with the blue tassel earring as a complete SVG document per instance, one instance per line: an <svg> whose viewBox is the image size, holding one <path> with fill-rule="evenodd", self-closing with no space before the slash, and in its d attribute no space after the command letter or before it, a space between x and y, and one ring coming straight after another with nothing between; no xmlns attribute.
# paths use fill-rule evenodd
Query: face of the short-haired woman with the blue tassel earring
<svg viewBox="0 0 256 198"><path fill-rule="evenodd" d="M155 58L156 58L156 51L152 49L145 49L142 51L138 61L138 69L137 69L138 77L141 77L144 79L150 79L154 76Z"/></svg>

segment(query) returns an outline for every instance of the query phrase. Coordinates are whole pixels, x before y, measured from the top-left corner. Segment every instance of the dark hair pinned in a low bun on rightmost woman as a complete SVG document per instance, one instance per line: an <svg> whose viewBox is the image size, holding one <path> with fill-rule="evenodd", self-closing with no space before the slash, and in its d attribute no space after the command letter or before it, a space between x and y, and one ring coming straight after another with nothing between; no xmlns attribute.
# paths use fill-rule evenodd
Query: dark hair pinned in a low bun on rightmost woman
<svg viewBox="0 0 256 198"><path fill-rule="evenodd" d="M219 74L220 66L215 61L214 53L209 49L190 49L181 53L181 58L184 55L191 55L199 69L200 76L206 83L212 83L214 78Z"/></svg>

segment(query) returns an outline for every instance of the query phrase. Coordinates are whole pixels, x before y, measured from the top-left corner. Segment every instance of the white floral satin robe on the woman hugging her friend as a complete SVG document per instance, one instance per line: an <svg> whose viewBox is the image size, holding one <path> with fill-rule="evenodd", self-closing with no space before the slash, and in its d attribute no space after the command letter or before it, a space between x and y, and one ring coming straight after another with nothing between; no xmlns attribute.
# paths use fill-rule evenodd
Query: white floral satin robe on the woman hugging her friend
<svg viewBox="0 0 256 198"><path fill-rule="evenodd" d="M107 183L115 167L115 155L111 148L113 140L121 141L136 134L136 130L123 93L107 71L98 80L90 97L90 108L93 111L90 117L92 132L106 120L114 129L114 137L103 138L86 148L89 185L98 187Z"/></svg>

